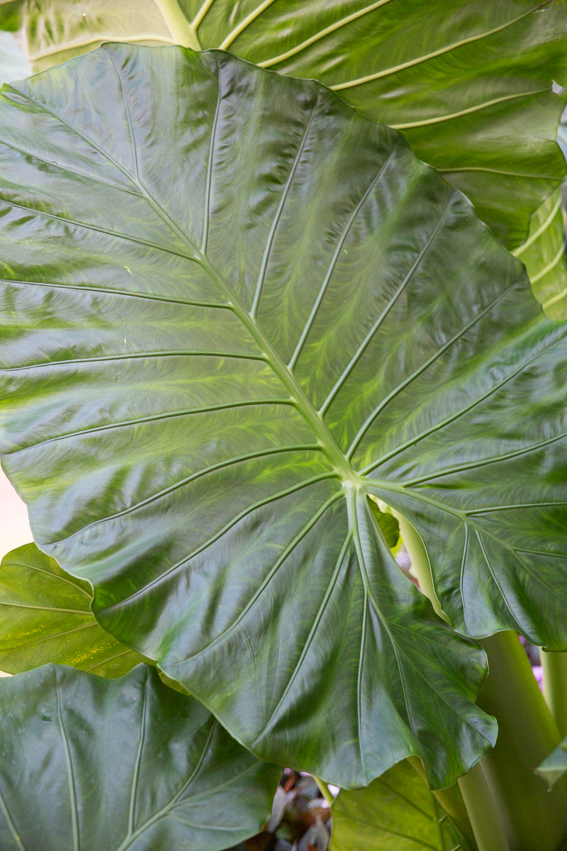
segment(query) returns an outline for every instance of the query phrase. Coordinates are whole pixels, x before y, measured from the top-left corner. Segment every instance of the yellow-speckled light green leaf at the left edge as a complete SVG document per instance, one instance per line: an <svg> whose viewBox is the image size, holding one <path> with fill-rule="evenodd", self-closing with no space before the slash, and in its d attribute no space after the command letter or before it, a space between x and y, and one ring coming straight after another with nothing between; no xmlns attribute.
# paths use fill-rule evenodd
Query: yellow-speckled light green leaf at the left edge
<svg viewBox="0 0 567 851"><path fill-rule="evenodd" d="M30 671L48 662L100 677L122 677L144 656L105 632L90 610L90 585L65 573L35 544L0 564L0 670Z"/></svg>

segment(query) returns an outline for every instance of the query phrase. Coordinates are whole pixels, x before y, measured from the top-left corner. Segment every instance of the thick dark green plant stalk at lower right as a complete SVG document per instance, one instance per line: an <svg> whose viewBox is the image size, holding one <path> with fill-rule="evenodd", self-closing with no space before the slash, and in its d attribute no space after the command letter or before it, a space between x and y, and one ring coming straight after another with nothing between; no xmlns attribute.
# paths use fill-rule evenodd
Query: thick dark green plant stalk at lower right
<svg viewBox="0 0 567 851"><path fill-rule="evenodd" d="M534 769L560 741L514 631L482 640L490 674L478 705L496 716L496 747L483 760L512 851L558 851L567 838L567 784L548 792Z"/></svg>

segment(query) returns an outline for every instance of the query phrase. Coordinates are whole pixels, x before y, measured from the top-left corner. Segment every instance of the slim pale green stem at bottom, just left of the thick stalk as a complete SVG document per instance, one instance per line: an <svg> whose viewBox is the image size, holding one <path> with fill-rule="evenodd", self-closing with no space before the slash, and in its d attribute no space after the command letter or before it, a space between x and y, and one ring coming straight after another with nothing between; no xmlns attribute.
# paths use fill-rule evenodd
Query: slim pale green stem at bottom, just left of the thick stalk
<svg viewBox="0 0 567 851"><path fill-rule="evenodd" d="M457 780L479 851L510 851L482 765Z"/></svg>

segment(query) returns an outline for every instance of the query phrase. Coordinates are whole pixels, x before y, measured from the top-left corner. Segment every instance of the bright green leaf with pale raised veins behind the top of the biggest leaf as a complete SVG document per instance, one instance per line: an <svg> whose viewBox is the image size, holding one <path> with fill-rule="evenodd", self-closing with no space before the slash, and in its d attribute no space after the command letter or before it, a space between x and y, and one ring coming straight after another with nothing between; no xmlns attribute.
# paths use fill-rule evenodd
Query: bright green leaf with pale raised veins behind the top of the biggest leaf
<svg viewBox="0 0 567 851"><path fill-rule="evenodd" d="M567 9L552 0L26 0L20 27L37 70L105 39L173 37L315 77L403 129L507 248L564 179L551 87L567 85Z"/></svg>

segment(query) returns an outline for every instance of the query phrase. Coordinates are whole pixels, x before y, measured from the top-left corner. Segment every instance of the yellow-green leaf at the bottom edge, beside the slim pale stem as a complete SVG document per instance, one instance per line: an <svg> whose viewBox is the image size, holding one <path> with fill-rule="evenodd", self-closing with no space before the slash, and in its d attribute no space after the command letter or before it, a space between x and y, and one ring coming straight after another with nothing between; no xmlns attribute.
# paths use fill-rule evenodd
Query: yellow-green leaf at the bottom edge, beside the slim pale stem
<svg viewBox="0 0 567 851"><path fill-rule="evenodd" d="M366 789L341 790L332 808L331 851L469 851L407 760Z"/></svg>

